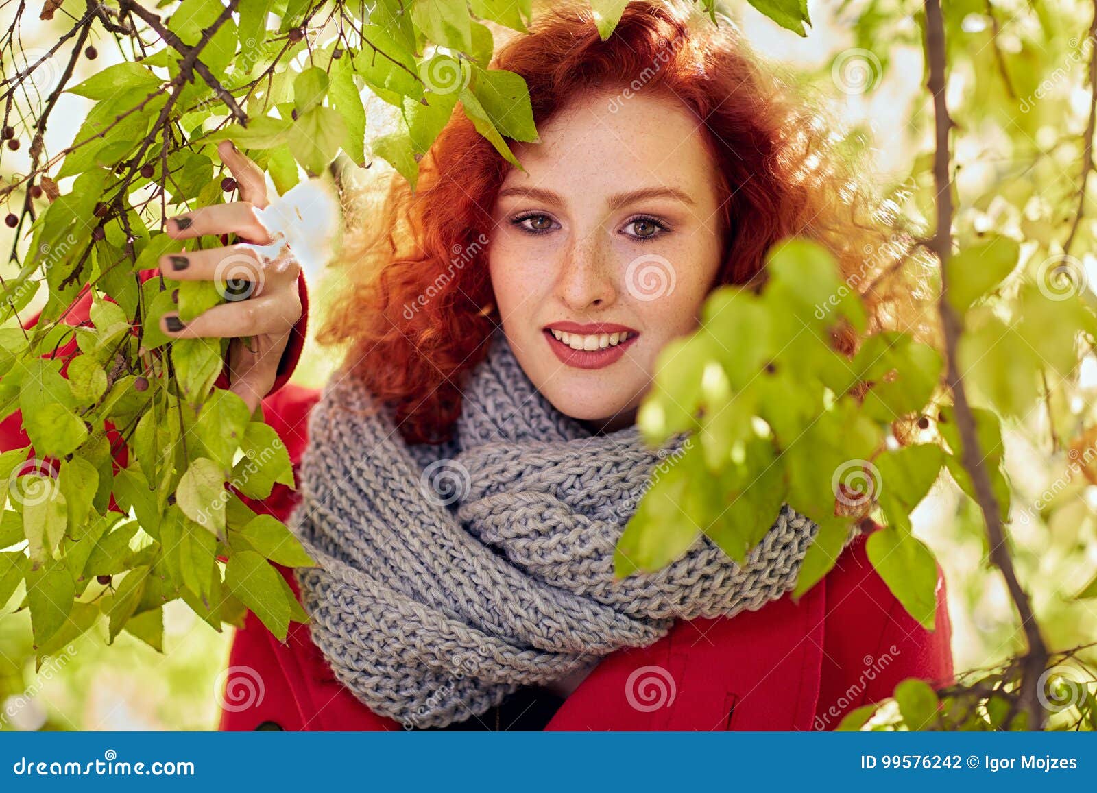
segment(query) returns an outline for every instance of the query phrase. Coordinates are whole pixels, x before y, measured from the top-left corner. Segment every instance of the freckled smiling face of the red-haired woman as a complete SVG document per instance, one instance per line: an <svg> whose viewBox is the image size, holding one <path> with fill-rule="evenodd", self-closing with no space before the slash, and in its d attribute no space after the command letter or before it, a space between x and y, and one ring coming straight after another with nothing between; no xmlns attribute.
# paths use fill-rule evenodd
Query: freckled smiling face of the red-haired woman
<svg viewBox="0 0 1097 793"><path fill-rule="evenodd" d="M697 327L720 267L716 170L672 99L588 94L517 144L488 264L502 329L561 412L635 421L655 359Z"/></svg>

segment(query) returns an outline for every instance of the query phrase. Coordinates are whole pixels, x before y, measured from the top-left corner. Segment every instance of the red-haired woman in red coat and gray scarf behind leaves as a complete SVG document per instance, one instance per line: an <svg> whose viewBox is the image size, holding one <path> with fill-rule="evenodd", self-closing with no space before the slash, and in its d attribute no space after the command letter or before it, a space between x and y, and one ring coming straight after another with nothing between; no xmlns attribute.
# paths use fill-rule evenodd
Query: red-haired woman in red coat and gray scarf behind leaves
<svg viewBox="0 0 1097 793"><path fill-rule="evenodd" d="M631 3L607 42L584 7L556 10L496 66L525 79L540 143L511 143L514 169L459 112L417 194L393 180L344 257L320 339L347 355L323 392L285 385L307 307L287 256L257 260L256 296L165 320L177 338L259 337L253 353L234 341L230 384L262 398L299 489L253 506L318 562L280 568L310 625L283 644L249 613L237 632L220 728L824 729L904 678L950 682L943 580L927 632L862 533L794 603L814 524L788 509L742 569L704 541L612 580L661 458L635 428L659 351L785 236L849 273L880 241L826 171L824 131L690 3ZM272 242L261 172L220 152L244 201L169 234ZM212 279L241 250L162 271ZM652 267L654 297L637 277Z"/></svg>

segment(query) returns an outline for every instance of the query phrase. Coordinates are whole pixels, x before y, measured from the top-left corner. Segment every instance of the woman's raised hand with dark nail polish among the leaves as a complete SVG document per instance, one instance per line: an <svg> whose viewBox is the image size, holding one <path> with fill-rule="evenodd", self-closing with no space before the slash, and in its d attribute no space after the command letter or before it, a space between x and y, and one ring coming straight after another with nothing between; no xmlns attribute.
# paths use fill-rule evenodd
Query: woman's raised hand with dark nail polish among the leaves
<svg viewBox="0 0 1097 793"><path fill-rule="evenodd" d="M169 279L227 282L226 303L203 311L185 326L178 313L166 314L160 328L174 339L231 338L229 390L255 412L274 385L290 331L301 318L301 264L281 241L282 235L263 225L260 211L269 203L263 172L230 140L223 140L217 152L236 179L240 200L173 217L167 233L176 239L235 234L250 241L160 257L160 272Z"/></svg>

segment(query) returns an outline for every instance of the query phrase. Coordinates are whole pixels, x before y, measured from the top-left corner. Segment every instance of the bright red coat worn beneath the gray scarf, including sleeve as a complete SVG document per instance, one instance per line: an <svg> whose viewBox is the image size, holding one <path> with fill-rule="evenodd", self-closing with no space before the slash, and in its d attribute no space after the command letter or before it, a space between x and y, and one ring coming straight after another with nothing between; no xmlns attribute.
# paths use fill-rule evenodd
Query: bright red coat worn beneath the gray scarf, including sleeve
<svg viewBox="0 0 1097 793"><path fill-rule="evenodd" d="M283 358L275 390L263 400L267 421L295 467L308 440L308 411L319 398L317 389L286 384L301 354L307 318L304 280L299 286L306 316ZM87 297L78 302L69 321L86 321L89 303ZM218 384L227 384L224 374ZM27 442L18 423L11 426L18 418L0 424L3 449L18 442L13 432L22 444ZM284 520L298 495L283 485L274 487L270 497L250 503ZM296 593L292 573L276 567ZM799 603L785 596L731 619L679 622L649 647L609 655L547 728L833 728L848 711L890 696L904 678L953 682L951 625L940 574L937 596L937 630L928 632L873 570L864 537L859 537ZM261 684L255 687L251 706L223 706L220 729L255 729L264 722L287 730L400 729L335 679L307 625L291 624L285 643L280 643L249 612L234 636L228 666L226 688L245 679ZM654 699L646 699L652 694Z"/></svg>

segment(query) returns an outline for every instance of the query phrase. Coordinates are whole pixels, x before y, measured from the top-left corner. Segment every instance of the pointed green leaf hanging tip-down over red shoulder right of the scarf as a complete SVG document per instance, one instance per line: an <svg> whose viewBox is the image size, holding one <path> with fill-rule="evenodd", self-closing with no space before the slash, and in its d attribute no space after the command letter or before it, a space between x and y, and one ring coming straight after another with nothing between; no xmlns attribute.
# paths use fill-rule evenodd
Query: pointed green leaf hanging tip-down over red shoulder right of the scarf
<svg viewBox="0 0 1097 793"><path fill-rule="evenodd" d="M891 526L870 534L866 551L907 613L932 631L937 613L937 560L932 552L913 534Z"/></svg>

